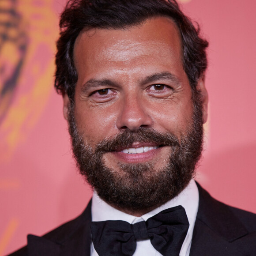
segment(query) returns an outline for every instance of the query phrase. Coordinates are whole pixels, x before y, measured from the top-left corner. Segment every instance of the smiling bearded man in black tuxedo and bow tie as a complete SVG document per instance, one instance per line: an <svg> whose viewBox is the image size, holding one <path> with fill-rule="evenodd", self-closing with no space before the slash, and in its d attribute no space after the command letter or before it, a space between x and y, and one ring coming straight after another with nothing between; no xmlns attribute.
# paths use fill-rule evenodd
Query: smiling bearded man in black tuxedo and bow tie
<svg viewBox="0 0 256 256"><path fill-rule="evenodd" d="M60 27L55 86L94 195L14 255L256 255L256 216L193 180L207 41L177 3L73 1Z"/></svg>

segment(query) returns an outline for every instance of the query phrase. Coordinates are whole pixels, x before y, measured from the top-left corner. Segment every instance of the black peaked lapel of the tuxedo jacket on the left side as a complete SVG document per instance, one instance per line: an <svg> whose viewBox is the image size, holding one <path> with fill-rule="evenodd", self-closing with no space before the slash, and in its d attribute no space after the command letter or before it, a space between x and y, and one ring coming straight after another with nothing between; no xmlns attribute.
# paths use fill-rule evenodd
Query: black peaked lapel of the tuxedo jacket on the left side
<svg viewBox="0 0 256 256"><path fill-rule="evenodd" d="M90 256L91 201L78 218L43 237L28 235L29 256Z"/></svg>

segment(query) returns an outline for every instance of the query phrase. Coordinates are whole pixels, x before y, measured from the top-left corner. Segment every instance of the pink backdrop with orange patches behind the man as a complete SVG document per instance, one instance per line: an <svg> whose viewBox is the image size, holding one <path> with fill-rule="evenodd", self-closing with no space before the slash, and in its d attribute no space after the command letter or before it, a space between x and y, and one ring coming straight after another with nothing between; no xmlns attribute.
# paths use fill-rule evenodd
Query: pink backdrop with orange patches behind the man
<svg viewBox="0 0 256 256"><path fill-rule="evenodd" d="M0 108L6 111L0 126L0 255L25 245L28 233L42 235L79 215L90 200L72 160L61 96L53 90L64 2L23 0L17 6L29 45L11 105ZM218 200L256 213L256 1L180 2L210 42L209 121L197 180ZM12 53L6 54L10 62Z"/></svg>

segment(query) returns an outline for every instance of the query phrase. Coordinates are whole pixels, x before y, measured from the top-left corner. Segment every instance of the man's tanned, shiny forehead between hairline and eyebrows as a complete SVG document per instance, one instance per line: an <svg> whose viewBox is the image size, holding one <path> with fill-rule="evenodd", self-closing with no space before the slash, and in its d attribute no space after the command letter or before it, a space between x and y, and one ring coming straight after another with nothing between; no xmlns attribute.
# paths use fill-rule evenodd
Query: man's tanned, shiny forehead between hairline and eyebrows
<svg viewBox="0 0 256 256"><path fill-rule="evenodd" d="M82 65L84 68L102 61L129 64L149 55L181 63L181 52L181 38L176 24L169 18L157 17L125 29L82 31L75 41L74 59L76 67Z"/></svg>

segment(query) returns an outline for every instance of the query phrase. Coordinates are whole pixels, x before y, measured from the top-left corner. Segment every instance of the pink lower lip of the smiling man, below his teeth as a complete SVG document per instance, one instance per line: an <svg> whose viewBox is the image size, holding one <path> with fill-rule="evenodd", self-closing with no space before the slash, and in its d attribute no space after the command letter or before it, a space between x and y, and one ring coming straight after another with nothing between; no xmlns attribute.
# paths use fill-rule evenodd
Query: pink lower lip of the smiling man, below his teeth
<svg viewBox="0 0 256 256"><path fill-rule="evenodd" d="M114 151L111 152L111 154L118 158L120 162L139 163L152 160L157 154L160 153L161 150L162 147L158 147L157 149L152 149L150 151L137 154L126 154L121 151Z"/></svg>

